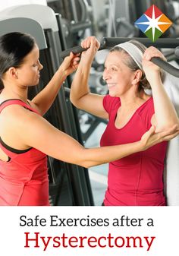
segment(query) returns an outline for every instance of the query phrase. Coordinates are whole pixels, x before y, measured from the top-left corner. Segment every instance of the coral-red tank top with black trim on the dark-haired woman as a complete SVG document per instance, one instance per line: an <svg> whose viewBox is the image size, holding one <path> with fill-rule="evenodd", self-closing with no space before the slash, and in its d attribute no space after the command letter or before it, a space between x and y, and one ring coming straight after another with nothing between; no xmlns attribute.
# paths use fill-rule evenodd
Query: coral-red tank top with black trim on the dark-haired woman
<svg viewBox="0 0 179 256"><path fill-rule="evenodd" d="M5 100L0 105L0 113L6 106L12 104L36 112L21 100ZM39 115L38 112L36 113ZM0 205L49 205L46 154L35 148L15 150L6 145L2 139L0 139L0 147L9 158L8 162L0 160Z"/></svg>

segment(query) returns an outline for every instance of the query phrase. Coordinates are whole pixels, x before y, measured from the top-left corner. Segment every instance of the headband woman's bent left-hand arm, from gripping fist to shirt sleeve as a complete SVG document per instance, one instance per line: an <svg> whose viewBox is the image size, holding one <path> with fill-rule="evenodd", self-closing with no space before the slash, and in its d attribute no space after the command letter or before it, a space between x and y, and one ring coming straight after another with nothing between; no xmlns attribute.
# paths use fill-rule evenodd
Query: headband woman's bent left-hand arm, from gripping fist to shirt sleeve
<svg viewBox="0 0 179 256"><path fill-rule="evenodd" d="M93 62L93 58L99 49L99 42L94 36L89 36L81 43L86 52L83 52L80 58L80 64L71 84L71 102L78 109L83 109L100 118L108 119L108 113L102 106L104 96L90 93L89 90L89 71Z"/></svg>

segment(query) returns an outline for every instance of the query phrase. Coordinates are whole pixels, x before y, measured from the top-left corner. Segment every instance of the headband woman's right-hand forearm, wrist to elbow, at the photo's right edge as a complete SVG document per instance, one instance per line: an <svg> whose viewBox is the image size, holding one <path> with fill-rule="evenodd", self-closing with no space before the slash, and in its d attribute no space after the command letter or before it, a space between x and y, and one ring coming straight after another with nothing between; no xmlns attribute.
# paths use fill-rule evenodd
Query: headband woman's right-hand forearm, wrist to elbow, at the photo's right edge
<svg viewBox="0 0 179 256"><path fill-rule="evenodd" d="M177 112L163 87L159 74L150 77L155 108L156 131L170 128L178 123Z"/></svg>

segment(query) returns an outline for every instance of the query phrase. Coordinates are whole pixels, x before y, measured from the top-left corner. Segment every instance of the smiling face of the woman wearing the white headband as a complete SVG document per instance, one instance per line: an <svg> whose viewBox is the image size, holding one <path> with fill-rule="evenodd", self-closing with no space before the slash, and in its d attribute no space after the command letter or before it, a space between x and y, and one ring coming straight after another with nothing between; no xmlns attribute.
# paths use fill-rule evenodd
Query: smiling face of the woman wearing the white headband
<svg viewBox="0 0 179 256"><path fill-rule="evenodd" d="M122 62L126 56L124 52L109 52L105 60L103 79L111 96L121 96L132 87L133 71Z"/></svg>

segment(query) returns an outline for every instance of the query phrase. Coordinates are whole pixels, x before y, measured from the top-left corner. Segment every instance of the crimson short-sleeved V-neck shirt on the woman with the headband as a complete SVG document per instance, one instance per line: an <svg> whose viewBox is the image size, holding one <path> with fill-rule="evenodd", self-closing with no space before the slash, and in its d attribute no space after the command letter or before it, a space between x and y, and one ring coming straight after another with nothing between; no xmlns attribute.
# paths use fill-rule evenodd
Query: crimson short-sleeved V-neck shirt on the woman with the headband
<svg viewBox="0 0 179 256"><path fill-rule="evenodd" d="M109 121L102 134L101 146L127 144L140 141L151 127L154 114L152 97L146 100L132 115L123 128L115 127L120 98L105 96L103 106L108 112ZM148 150L133 153L121 160L109 163L108 188L104 204L108 205L165 205L163 194L163 170L167 142L150 147Z"/></svg>

